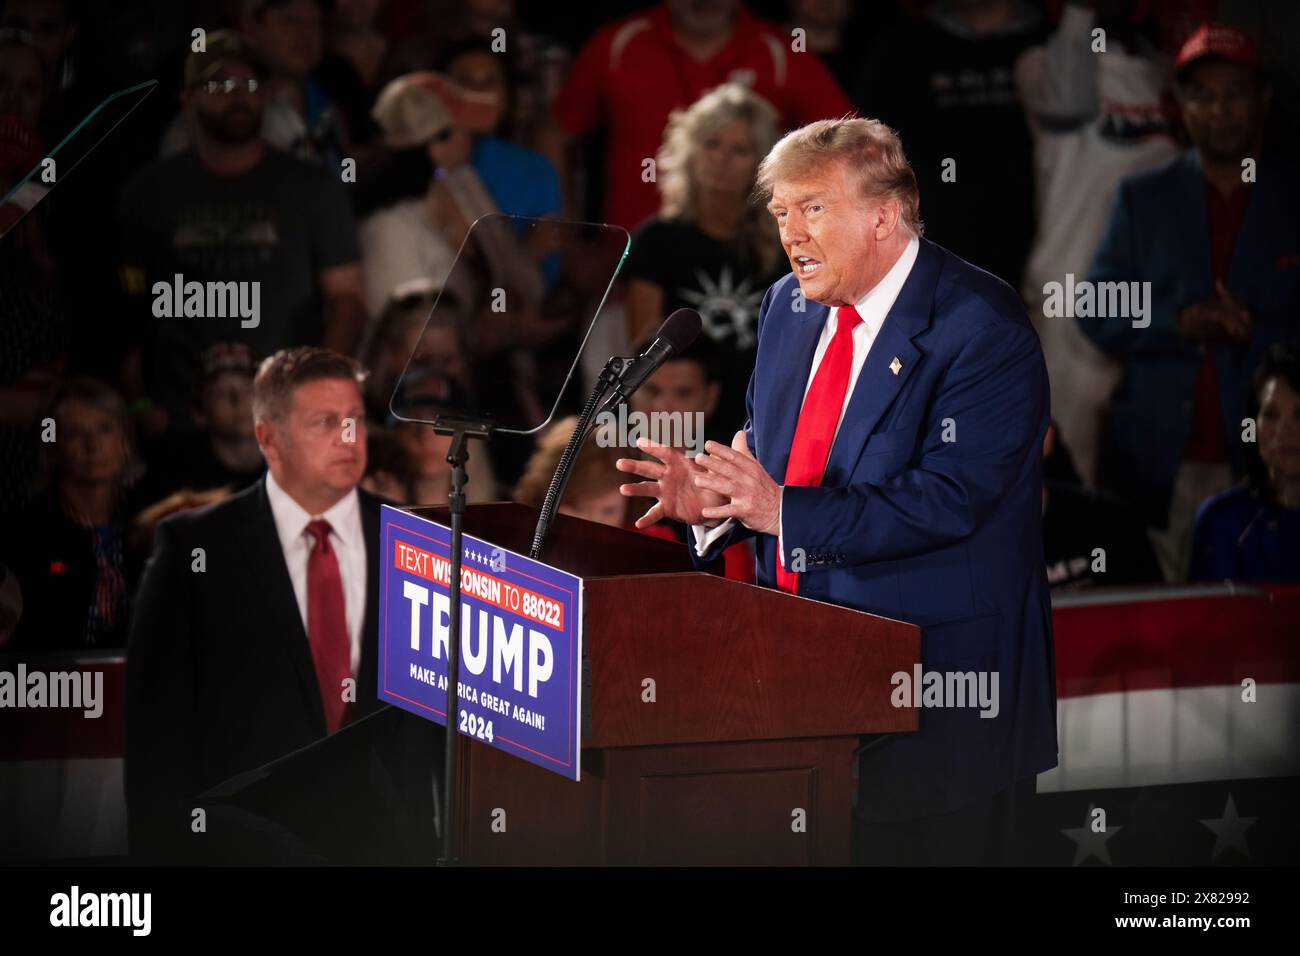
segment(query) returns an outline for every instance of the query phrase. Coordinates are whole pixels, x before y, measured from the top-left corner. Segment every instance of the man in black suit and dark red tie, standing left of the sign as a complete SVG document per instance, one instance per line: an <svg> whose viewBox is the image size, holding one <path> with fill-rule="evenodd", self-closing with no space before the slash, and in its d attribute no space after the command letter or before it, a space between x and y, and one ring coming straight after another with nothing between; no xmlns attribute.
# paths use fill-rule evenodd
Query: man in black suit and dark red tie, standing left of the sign
<svg viewBox="0 0 1300 956"><path fill-rule="evenodd" d="M254 382L268 473L157 528L127 652L136 856L202 857L199 793L380 706L361 377L326 349L268 358Z"/></svg>

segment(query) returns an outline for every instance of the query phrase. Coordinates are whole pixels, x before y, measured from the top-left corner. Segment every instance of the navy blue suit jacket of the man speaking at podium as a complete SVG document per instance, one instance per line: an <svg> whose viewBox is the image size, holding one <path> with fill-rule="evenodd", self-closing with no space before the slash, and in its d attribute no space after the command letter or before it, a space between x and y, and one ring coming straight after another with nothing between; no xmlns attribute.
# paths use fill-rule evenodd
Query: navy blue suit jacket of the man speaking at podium
<svg viewBox="0 0 1300 956"><path fill-rule="evenodd" d="M798 291L793 274L768 289L746 395L750 450L777 483L829 313ZM784 490L781 541L788 567L802 549L801 597L919 624L926 670L996 671L1000 706L993 718L978 708L922 709L915 734L868 745L863 819L945 813L1056 766L1046 425L1046 371L1019 297L922 239L822 485ZM749 535L737 524L696 561ZM759 584L775 581L776 545L757 536Z"/></svg>

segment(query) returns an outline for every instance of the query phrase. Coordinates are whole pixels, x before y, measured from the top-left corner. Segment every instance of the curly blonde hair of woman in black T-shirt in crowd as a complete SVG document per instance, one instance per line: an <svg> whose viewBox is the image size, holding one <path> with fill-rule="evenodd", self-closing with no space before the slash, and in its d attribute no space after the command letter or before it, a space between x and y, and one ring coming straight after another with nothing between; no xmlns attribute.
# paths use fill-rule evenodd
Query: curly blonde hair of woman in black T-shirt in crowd
<svg viewBox="0 0 1300 956"><path fill-rule="evenodd" d="M655 153L662 219L696 221L696 185L692 159L712 133L736 120L749 127L754 155L764 156L780 135L780 114L767 100L741 83L723 83L685 109L675 109L664 129L663 144ZM771 268L780 251L770 217L762 204L751 204L741 224L741 241Z"/></svg>

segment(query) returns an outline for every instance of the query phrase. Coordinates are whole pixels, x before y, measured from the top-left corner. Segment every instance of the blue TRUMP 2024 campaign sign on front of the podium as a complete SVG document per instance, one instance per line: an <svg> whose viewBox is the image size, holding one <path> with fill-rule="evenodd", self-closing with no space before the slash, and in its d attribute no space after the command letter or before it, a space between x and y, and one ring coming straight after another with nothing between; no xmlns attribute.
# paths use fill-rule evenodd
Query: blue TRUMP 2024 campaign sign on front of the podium
<svg viewBox="0 0 1300 956"><path fill-rule="evenodd" d="M447 721L451 529L384 506L380 697ZM462 734L577 780L582 580L465 535Z"/></svg>

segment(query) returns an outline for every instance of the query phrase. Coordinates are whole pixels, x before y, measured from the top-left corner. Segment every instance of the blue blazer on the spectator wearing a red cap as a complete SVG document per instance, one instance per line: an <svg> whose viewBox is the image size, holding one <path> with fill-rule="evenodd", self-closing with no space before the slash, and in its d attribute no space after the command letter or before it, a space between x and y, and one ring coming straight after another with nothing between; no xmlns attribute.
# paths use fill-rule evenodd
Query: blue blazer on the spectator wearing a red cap
<svg viewBox="0 0 1300 956"><path fill-rule="evenodd" d="M1199 342L1178 334L1174 317L1214 294L1205 176L1195 150L1119 185L1088 278L1150 282L1149 328L1127 319L1079 319L1079 326L1123 365L1110 399L1102 484L1164 527L1204 356ZM1300 172L1268 153L1256 169L1225 285L1254 316L1248 342L1214 351L1223 436L1232 470L1242 473L1251 376L1270 345L1300 341Z"/></svg>

